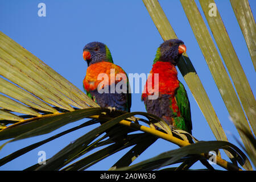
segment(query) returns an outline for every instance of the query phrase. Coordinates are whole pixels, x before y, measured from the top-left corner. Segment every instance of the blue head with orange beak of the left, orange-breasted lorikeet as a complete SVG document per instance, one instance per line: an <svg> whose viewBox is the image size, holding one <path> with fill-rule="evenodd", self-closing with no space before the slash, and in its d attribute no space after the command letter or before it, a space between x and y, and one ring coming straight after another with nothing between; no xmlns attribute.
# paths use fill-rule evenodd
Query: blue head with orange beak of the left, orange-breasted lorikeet
<svg viewBox="0 0 256 182"><path fill-rule="evenodd" d="M101 61L108 61L113 63L109 48L101 42L91 42L85 45L82 49L82 56L86 60L88 67L91 64Z"/></svg>

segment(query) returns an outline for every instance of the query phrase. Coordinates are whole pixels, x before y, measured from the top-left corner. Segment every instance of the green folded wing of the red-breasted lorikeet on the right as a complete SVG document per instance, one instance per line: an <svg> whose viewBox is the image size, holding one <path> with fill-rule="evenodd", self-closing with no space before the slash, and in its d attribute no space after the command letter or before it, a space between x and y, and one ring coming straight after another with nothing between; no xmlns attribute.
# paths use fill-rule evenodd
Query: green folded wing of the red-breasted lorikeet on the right
<svg viewBox="0 0 256 182"><path fill-rule="evenodd" d="M175 99L177 102L177 106L179 107L180 114L184 118L184 122L185 122L184 130L188 131L188 133L191 133L192 121L191 121L190 104L189 104L187 92L184 88L184 85L181 84L181 82L179 84L179 88L177 88L176 90Z"/></svg>

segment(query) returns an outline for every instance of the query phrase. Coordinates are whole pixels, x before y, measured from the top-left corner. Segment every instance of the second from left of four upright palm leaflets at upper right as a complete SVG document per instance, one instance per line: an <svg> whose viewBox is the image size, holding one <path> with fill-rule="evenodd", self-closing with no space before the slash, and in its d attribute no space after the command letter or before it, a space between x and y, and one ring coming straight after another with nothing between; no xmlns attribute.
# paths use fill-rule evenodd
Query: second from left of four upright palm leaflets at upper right
<svg viewBox="0 0 256 182"><path fill-rule="evenodd" d="M191 24L191 28L197 42L199 43L201 51L203 52L205 61L207 61L208 67L212 73L214 81L216 82L218 90L220 90L221 97L229 111L230 117L234 122L238 122L239 125L243 124L250 129L245 114L243 113L240 101L237 98L236 91L233 88L232 82L229 79L220 55L218 55L217 48L214 45L196 3L194 1L187 0L181 0L180 2L183 6L185 14L187 15L189 23ZM254 150L250 146L250 142L247 140L245 135L241 132L239 133L247 150Z"/></svg>

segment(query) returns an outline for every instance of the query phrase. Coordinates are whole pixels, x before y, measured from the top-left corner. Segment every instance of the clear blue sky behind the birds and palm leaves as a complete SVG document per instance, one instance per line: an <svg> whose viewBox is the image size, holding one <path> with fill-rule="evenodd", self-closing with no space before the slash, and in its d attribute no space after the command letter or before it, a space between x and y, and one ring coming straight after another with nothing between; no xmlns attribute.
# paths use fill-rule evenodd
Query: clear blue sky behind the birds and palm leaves
<svg viewBox="0 0 256 182"><path fill-rule="evenodd" d="M46 17L38 16L38 4L41 2L46 4ZM209 99L229 141L239 147L232 135L236 138L240 137L233 123L229 120L229 113L226 110L217 86L210 74L208 65L196 42L181 3L177 0L159 0L159 2L174 28L177 37L185 43L187 54L201 82L203 82L204 88L208 93ZM199 2L196 1L196 3L201 15L203 15ZM256 1L251 0L249 3L253 14L255 14ZM236 50L238 59L240 59L242 68L249 80L251 89L255 93L254 67L232 6L228 0L216 0L216 4ZM55 69L56 72L67 78L81 90L83 89L82 80L85 77L87 68L86 62L82 59L82 48L85 44L93 41L105 43L112 52L115 64L125 69L126 73L140 74L150 72L156 49L163 42L150 15L147 13L146 7L139 0L0 0L0 22L0 31L39 57L44 63ZM180 72L179 80L185 85L191 103L193 136L199 140L215 140L207 121ZM143 102L141 102L141 94L132 95L131 111L146 111ZM79 125L84 121L83 119L79 122L71 123L50 134L9 143L0 151L0 158L11 154L11 152L19 148L26 147L28 144L38 142L39 140L46 139L61 131ZM92 130L93 127L77 130L75 133L65 135L53 142L44 144L13 160L13 162L1 166L0 170L21 170L30 167L37 163L39 158L38 152L41 150L46 151L46 157L48 159L76 138ZM3 142L6 142L6 140L0 141L0 144ZM135 160L135 162L151 158L152 156L175 148L177 146L174 144L159 139ZM118 152L118 154L102 160L102 162L97 163L89 169L109 169L129 149ZM222 155L226 159L224 152L222 152ZM196 163L192 168L204 167L200 163ZM220 167L216 168L222 169Z"/></svg>

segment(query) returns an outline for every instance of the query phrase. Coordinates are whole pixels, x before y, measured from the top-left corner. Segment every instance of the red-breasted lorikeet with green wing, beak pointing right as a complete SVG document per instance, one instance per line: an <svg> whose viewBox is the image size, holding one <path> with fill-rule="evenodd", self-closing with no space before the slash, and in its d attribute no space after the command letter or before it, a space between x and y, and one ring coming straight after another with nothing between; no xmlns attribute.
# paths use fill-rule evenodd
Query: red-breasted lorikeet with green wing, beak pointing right
<svg viewBox="0 0 256 182"><path fill-rule="evenodd" d="M185 51L184 43L178 39L166 40L160 45L142 93L142 101L148 113L162 118L171 128L191 134L190 104L184 85L177 79L175 68L179 57ZM155 73L158 73L158 82L155 82ZM150 99L152 94L158 97Z"/></svg>

